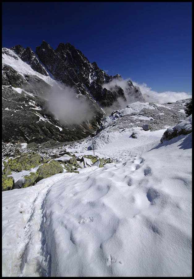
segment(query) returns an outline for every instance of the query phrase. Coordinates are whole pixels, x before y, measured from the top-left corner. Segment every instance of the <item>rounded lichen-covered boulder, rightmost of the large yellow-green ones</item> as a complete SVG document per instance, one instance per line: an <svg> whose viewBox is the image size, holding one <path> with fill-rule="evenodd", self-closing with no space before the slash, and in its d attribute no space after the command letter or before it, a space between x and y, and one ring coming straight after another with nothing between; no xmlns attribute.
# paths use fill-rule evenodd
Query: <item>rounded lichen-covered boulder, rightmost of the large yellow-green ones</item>
<svg viewBox="0 0 194 279"><path fill-rule="evenodd" d="M63 167L60 165L60 163L56 160L52 160L49 163L43 164L40 166L37 170L37 179L36 182L40 181L41 179L48 178L52 175L55 175L57 173L62 173Z"/></svg>

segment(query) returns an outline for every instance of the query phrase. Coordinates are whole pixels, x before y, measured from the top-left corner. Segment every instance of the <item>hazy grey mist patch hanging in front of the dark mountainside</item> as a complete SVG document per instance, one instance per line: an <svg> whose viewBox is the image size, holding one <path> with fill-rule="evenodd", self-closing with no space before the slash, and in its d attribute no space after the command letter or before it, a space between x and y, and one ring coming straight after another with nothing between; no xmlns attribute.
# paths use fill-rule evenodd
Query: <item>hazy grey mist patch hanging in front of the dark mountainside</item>
<svg viewBox="0 0 194 279"><path fill-rule="evenodd" d="M31 82L23 88L43 99L45 110L63 125L81 124L94 116L88 100L73 87L57 82L50 86L42 81Z"/></svg>

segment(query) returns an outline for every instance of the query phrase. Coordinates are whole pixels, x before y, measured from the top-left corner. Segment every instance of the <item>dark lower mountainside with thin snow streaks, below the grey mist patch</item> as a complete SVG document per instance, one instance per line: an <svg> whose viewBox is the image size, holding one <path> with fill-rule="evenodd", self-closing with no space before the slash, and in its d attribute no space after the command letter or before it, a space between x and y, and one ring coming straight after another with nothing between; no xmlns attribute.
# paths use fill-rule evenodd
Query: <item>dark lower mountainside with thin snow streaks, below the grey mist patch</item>
<svg viewBox="0 0 194 279"><path fill-rule="evenodd" d="M91 127L61 125L44 107L44 100L41 98L25 94L24 91L18 93L10 87L3 86L2 141L13 143L73 141L90 135L94 131L93 127L97 127L97 122L94 122Z"/></svg>

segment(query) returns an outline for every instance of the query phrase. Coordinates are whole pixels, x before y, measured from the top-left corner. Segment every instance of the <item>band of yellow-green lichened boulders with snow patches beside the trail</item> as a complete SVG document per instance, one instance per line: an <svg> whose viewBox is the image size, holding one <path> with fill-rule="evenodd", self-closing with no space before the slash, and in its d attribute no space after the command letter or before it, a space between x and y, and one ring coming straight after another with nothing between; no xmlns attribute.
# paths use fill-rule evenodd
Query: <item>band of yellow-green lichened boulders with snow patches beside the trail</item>
<svg viewBox="0 0 194 279"><path fill-rule="evenodd" d="M3 161L2 191L30 187L41 179L58 173L79 173L78 169L84 167L103 167L106 163L113 162L110 158L104 159L92 155L76 157L75 154L70 152L52 155L48 160L34 151L31 153L22 152L15 155L17 156L14 158L6 158ZM14 179L14 174L23 170L29 171L28 174L18 180Z"/></svg>

